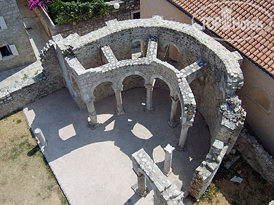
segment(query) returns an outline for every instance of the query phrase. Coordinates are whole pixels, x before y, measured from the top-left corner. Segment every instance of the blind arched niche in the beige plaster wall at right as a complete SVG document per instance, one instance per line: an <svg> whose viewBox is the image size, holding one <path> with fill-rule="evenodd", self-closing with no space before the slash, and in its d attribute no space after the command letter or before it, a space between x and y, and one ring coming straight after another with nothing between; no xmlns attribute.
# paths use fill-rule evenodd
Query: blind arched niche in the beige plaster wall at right
<svg viewBox="0 0 274 205"><path fill-rule="evenodd" d="M254 94L256 92L256 94ZM273 110L273 100L271 98L271 95L267 90L264 89L264 87L261 87L260 85L251 85L247 89L246 93L247 97L255 102L264 112L267 114L272 113Z"/></svg>

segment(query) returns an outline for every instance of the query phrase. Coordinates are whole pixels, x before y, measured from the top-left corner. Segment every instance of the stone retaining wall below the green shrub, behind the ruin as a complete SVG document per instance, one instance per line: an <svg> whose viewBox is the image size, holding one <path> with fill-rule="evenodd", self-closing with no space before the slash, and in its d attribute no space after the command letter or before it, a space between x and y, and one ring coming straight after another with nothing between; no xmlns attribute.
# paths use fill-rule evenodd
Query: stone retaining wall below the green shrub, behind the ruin
<svg viewBox="0 0 274 205"><path fill-rule="evenodd" d="M118 10L114 9L114 2L117 1L108 2L110 8L105 16L92 20L82 20L76 25L54 25L47 12L45 12L42 8L34 9L34 12L36 12L36 15L40 18L40 22L44 26L45 31L51 37L57 35L58 33L60 33L64 38L69 36L71 33L78 33L79 36L83 36L90 33L90 31L95 31L96 29L104 27L105 21L107 20L112 20L114 18L117 20L131 19L132 12L140 10L140 0L118 1L120 3L120 8Z"/></svg>

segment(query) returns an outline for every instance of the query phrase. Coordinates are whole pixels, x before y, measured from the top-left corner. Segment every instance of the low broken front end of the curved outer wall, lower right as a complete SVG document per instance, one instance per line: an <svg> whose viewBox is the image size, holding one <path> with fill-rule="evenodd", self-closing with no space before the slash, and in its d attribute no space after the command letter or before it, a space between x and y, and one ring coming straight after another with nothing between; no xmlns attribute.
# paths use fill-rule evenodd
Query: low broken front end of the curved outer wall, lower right
<svg viewBox="0 0 274 205"><path fill-rule="evenodd" d="M212 182L214 175L216 174L225 152L227 152L228 146L225 146L223 141L216 139L210 151L206 155L206 159L202 161L201 165L195 170L195 174L190 182L188 191L192 196L199 199L201 195L206 191L209 184Z"/></svg>

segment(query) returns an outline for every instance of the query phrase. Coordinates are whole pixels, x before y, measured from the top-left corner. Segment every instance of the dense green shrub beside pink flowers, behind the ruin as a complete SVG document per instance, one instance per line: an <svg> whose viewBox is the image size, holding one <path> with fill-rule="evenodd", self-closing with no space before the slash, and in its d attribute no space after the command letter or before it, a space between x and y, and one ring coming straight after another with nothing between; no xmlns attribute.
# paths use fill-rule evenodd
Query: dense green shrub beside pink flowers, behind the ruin
<svg viewBox="0 0 274 205"><path fill-rule="evenodd" d="M108 4L105 4L105 0L57 0L49 5L49 16L58 25L67 23L75 25L80 20L97 18L106 12L108 12Z"/></svg>

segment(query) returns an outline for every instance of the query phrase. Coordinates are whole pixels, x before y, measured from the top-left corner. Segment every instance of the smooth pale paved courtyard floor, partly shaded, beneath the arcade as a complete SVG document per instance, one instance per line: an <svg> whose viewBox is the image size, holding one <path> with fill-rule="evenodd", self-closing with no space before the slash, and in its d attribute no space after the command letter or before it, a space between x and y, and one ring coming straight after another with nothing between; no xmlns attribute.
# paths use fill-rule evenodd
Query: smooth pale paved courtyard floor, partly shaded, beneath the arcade
<svg viewBox="0 0 274 205"><path fill-rule="evenodd" d="M162 170L163 148L167 143L176 147L181 126L167 124L171 110L168 92L153 90L153 114L143 111L145 88L122 96L125 115L115 114L114 96L95 104L102 123L96 130L88 126L88 111L79 110L66 88L24 109L32 130L41 128L47 139L44 154L71 204L153 204L153 191L139 200L131 189L137 182L131 154L144 148ZM179 113L178 107L178 121ZM186 152L173 152L169 176L182 191L210 147L208 128L199 112L186 143Z"/></svg>

